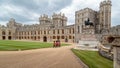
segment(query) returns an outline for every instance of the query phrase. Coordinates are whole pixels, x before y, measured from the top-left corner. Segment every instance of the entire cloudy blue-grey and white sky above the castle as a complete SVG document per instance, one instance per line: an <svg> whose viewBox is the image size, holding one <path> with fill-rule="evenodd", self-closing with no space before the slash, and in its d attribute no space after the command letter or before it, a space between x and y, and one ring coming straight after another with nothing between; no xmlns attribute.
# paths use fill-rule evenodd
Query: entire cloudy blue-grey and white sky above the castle
<svg viewBox="0 0 120 68"><path fill-rule="evenodd" d="M75 11L86 7L99 11L104 0L0 0L0 24L6 25L10 18L22 24L39 24L40 15L50 17L55 13L64 13L68 25L75 23ZM120 23L120 0L112 1L112 26Z"/></svg>

